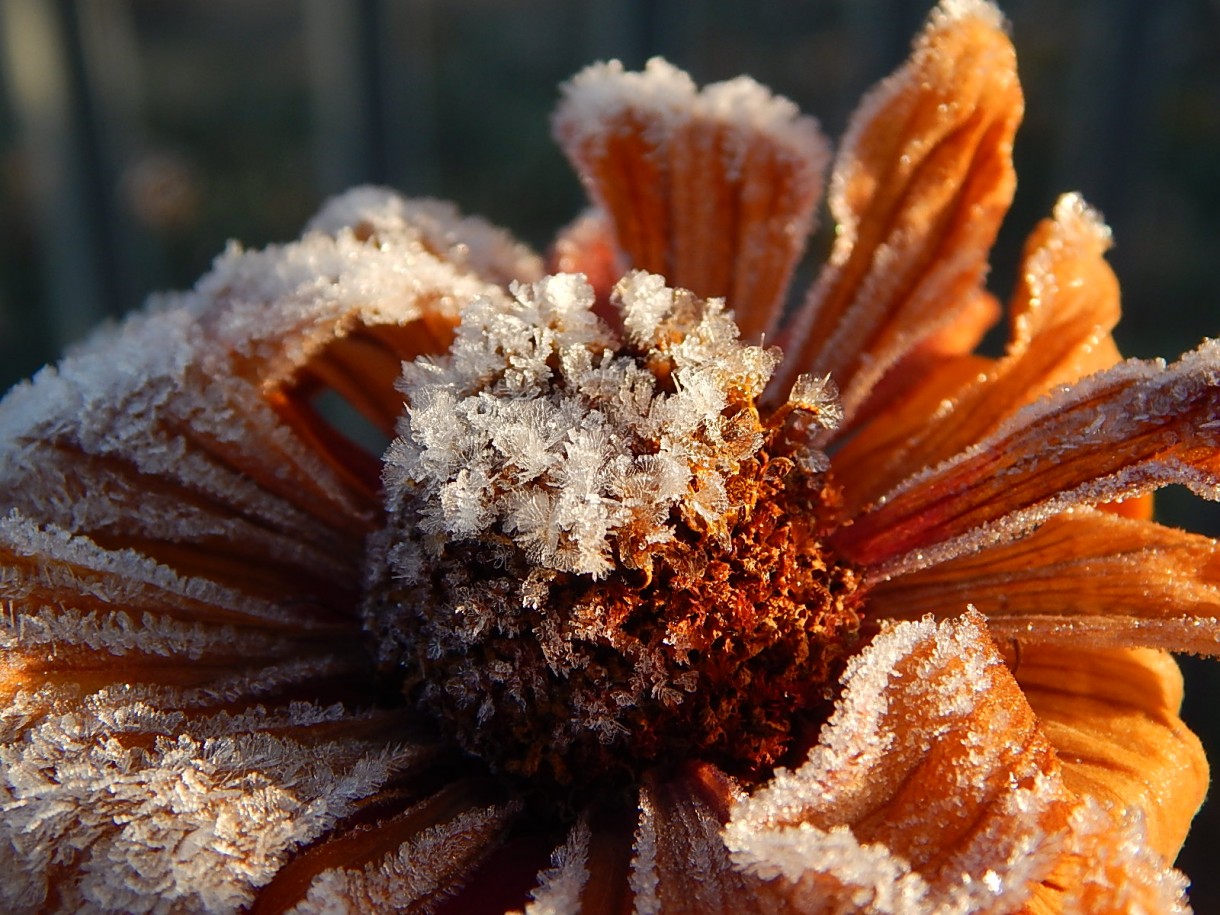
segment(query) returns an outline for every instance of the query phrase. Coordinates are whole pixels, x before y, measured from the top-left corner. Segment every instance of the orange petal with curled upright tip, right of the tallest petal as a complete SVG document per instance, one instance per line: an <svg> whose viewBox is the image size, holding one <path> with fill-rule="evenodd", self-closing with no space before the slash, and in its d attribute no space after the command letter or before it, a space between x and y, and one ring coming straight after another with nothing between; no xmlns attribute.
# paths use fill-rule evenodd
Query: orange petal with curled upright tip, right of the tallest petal
<svg viewBox="0 0 1220 915"><path fill-rule="evenodd" d="M931 415L894 404L861 428L836 460L849 511L981 442L1054 386L1119 361L1109 336L1119 320L1118 281L1103 256L1109 245L1109 229L1080 198L1059 200L1026 244L1005 356L928 399Z"/></svg>

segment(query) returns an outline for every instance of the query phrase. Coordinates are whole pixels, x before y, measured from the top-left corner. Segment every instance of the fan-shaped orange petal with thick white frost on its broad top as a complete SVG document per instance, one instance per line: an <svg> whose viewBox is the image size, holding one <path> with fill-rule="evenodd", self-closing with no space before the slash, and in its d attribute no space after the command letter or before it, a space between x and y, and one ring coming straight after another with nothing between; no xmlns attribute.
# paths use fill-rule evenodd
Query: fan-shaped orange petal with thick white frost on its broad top
<svg viewBox="0 0 1220 915"><path fill-rule="evenodd" d="M747 339L771 326L828 160L811 118L744 77L697 92L661 60L615 61L564 87L554 129L631 266L726 296Z"/></svg>

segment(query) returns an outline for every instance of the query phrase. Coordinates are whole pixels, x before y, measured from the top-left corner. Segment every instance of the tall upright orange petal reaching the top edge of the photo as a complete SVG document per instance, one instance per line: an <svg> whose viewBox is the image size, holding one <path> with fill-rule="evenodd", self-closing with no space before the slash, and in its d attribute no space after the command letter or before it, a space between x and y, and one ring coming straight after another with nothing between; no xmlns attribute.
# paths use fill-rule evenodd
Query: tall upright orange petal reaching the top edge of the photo
<svg viewBox="0 0 1220 915"><path fill-rule="evenodd" d="M858 110L831 179L834 249L781 337L772 392L831 373L850 417L970 307L1013 196L1016 59L989 4L946 2Z"/></svg>

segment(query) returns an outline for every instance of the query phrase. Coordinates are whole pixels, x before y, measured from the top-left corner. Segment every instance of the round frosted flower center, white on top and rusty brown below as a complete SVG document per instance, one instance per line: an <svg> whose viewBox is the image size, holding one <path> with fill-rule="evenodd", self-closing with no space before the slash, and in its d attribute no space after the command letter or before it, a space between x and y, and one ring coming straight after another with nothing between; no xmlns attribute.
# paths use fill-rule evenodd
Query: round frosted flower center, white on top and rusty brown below
<svg viewBox="0 0 1220 915"><path fill-rule="evenodd" d="M822 547L838 421L719 299L636 272L621 328L583 277L481 299L404 367L366 627L405 695L499 771L560 783L698 755L762 773L808 739L859 638Z"/></svg>

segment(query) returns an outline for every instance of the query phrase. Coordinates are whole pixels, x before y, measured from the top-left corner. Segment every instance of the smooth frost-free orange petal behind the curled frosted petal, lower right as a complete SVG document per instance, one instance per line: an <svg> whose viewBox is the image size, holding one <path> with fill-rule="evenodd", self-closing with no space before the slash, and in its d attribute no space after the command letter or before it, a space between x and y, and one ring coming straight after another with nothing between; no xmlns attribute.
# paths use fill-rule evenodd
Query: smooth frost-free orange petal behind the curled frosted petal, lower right
<svg viewBox="0 0 1220 915"><path fill-rule="evenodd" d="M1148 649L1031 647L1016 680L1068 787L1142 814L1149 845L1171 861L1208 787L1203 747L1177 716L1174 659Z"/></svg>

